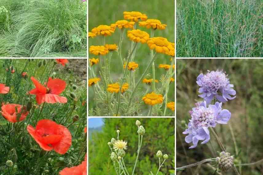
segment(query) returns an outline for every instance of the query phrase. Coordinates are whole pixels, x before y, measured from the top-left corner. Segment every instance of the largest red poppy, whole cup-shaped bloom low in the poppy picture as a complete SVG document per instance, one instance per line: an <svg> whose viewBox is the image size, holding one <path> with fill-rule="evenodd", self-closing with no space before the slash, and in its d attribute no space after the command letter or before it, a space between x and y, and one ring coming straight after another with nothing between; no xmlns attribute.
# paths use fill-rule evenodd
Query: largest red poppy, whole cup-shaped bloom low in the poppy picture
<svg viewBox="0 0 263 175"><path fill-rule="evenodd" d="M36 129L28 125L27 131L45 151L54 149L59 154L65 154L71 146L72 137L69 130L52 120L39 120Z"/></svg>

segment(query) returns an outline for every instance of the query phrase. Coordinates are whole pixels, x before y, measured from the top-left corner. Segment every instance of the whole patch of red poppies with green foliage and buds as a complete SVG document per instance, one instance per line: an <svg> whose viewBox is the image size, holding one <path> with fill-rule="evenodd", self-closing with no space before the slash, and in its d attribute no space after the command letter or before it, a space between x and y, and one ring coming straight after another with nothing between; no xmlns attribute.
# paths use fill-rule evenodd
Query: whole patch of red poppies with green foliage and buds
<svg viewBox="0 0 263 175"><path fill-rule="evenodd" d="M86 59L0 61L1 175L87 173L87 82L70 71L77 61Z"/></svg>

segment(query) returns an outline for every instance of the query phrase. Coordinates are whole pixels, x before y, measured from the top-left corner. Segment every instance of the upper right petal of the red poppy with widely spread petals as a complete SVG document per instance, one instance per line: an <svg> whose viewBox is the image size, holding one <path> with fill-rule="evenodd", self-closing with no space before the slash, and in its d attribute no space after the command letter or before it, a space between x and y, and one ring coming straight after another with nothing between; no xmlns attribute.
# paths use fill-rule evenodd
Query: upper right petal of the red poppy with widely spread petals
<svg viewBox="0 0 263 175"><path fill-rule="evenodd" d="M55 79L49 79L47 87L51 89L51 94L61 94L65 88L66 88L66 82L55 78Z"/></svg>

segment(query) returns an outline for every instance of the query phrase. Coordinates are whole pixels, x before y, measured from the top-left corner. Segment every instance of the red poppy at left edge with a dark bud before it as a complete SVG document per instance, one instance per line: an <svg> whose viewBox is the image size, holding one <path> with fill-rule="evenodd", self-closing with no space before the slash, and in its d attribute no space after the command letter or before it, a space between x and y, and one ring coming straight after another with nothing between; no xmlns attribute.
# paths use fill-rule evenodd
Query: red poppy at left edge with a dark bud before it
<svg viewBox="0 0 263 175"><path fill-rule="evenodd" d="M16 112L17 108L17 112ZM22 121L26 119L26 116L28 115L28 111L26 111L26 107L23 107L22 105L19 104L4 104L1 107L2 111L0 113L3 115L3 117L8 120L9 122L18 122L17 117L21 112L21 109L23 110L19 121Z"/></svg>

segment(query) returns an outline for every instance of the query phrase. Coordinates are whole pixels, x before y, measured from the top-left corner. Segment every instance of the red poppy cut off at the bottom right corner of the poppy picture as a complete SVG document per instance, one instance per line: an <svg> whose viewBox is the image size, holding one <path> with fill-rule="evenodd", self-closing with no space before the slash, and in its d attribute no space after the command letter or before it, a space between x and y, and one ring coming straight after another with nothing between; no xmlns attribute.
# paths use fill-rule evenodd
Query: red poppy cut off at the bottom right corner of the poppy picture
<svg viewBox="0 0 263 175"><path fill-rule="evenodd" d="M73 166L71 168L64 168L60 175L87 175L87 154L85 160L78 166Z"/></svg>

